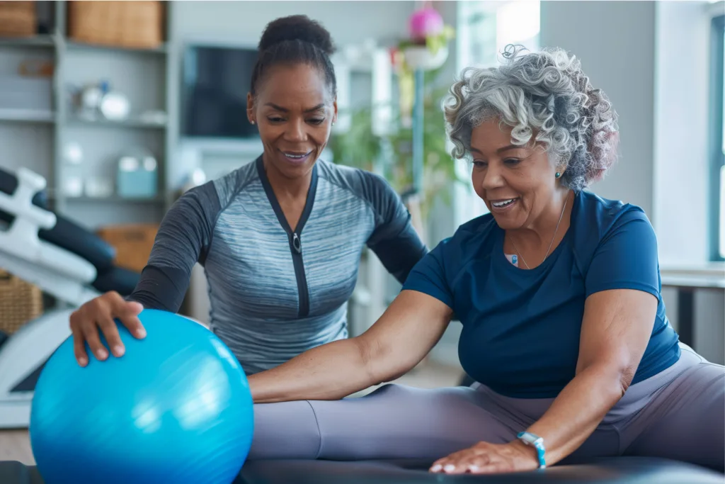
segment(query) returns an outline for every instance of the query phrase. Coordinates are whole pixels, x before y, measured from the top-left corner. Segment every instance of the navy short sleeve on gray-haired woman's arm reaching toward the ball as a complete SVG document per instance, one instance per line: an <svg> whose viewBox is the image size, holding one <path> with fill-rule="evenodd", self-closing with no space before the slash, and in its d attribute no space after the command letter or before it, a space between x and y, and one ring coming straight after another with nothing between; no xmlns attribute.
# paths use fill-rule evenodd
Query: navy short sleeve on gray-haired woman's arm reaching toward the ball
<svg viewBox="0 0 725 484"><path fill-rule="evenodd" d="M445 251L450 239L436 245L410 271L402 290L423 292L453 308L453 293L447 279Z"/></svg>

